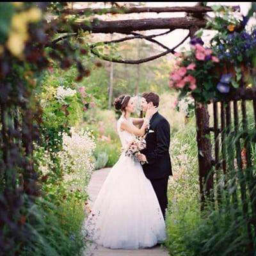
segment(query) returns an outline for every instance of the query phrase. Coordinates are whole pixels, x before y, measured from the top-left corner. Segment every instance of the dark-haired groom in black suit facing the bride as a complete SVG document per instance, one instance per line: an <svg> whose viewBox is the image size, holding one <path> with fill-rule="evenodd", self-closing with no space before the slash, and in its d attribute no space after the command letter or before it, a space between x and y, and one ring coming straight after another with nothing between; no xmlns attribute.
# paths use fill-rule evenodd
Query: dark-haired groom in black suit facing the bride
<svg viewBox="0 0 256 256"><path fill-rule="evenodd" d="M159 106L159 95L154 92L142 94L141 108L147 111L149 106ZM168 178L172 175L172 164L170 160L170 124L158 111L149 120L150 127L146 135L147 146L137 155L139 161L145 161L142 165L145 176L150 180L156 192L161 211L165 218L167 208L167 186Z"/></svg>

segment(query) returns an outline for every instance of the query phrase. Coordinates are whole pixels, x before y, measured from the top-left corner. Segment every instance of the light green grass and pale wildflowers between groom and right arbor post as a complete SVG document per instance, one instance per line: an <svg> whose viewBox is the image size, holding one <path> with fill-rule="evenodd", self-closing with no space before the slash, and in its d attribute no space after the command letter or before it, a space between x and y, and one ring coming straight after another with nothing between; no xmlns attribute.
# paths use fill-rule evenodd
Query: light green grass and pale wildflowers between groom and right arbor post
<svg viewBox="0 0 256 256"><path fill-rule="evenodd" d="M172 121L171 121L172 122ZM195 117L184 127L172 133L170 154L173 177L168 183L168 211L165 245L170 255L192 256L187 237L192 236L200 220L198 163Z"/></svg>

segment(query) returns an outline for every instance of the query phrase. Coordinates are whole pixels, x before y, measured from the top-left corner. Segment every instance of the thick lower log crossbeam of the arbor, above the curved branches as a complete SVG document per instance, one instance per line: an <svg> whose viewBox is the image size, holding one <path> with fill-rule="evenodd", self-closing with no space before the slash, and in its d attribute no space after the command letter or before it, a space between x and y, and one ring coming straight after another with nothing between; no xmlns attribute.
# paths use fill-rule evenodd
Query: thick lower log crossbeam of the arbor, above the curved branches
<svg viewBox="0 0 256 256"><path fill-rule="evenodd" d="M83 29L84 31L92 31L92 33L131 34L133 31L143 31L148 29L189 29L191 26L204 28L206 22L206 20L197 19L195 17L111 21L94 19L92 22L86 20L84 22L71 24L70 26L74 32ZM67 33L63 28L59 28L58 32Z"/></svg>

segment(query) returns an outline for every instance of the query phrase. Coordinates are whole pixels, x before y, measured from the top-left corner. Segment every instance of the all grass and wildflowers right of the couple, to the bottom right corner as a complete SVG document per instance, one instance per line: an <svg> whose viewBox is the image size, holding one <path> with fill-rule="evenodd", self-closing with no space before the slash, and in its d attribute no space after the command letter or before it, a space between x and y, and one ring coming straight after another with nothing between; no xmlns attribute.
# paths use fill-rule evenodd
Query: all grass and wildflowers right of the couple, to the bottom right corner
<svg viewBox="0 0 256 256"><path fill-rule="evenodd" d="M248 134L245 140L250 141L254 166L256 151L252 104L247 104L247 111ZM218 182L214 184L215 204L206 202L204 211L200 212L198 188L195 186L198 182L195 130L191 131L193 126L190 125L189 122L186 131L177 132L172 138L174 172L169 182L170 201L166 218L166 246L169 253L182 256L255 255L255 168L243 167L242 171L236 163L232 165L236 143L243 141L242 132L236 137L234 134L227 136L228 172L226 175L220 173ZM242 131L243 125L239 124L239 127ZM234 125L229 128L234 129ZM180 146L175 140L179 141ZM189 147L186 147L186 143L189 143ZM180 157L180 152L184 152L185 156ZM244 154L243 148L243 165L246 161ZM180 172L183 166L184 171Z"/></svg>

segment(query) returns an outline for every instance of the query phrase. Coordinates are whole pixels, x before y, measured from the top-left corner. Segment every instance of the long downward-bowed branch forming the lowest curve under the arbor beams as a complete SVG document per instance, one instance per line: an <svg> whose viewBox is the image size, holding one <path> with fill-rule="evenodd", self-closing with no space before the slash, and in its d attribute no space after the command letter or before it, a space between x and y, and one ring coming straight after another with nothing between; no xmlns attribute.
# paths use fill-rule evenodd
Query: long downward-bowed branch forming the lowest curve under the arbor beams
<svg viewBox="0 0 256 256"><path fill-rule="evenodd" d="M91 52L93 54L95 54L96 56L98 56L100 59L102 60L106 60L106 61L111 61L111 62L115 62L115 63L123 63L123 64L141 64L141 63L145 63L148 61L152 61L152 60L156 60L157 58L160 58L170 52L172 52L173 54L175 53L175 49L177 47L179 47L180 45L182 45L187 39L189 38L189 33L188 35L177 45L175 45L175 47L173 47L172 49L168 49L165 52L161 52L159 54L156 54L154 56L148 57L148 58L144 58L141 60L117 60L115 58L111 58L109 56L101 56L98 52L93 51L94 49L91 49Z"/></svg>

